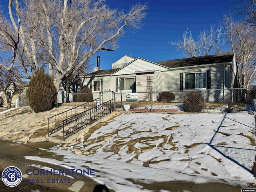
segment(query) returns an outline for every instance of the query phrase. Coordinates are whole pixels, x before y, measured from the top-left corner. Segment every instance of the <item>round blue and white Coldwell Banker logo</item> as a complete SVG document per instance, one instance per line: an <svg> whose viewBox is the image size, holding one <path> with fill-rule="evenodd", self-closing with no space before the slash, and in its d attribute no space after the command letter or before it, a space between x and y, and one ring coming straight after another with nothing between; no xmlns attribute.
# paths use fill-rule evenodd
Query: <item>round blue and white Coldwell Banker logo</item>
<svg viewBox="0 0 256 192"><path fill-rule="evenodd" d="M7 167L2 172L2 180L9 187L16 187L22 181L22 173L17 167Z"/></svg>

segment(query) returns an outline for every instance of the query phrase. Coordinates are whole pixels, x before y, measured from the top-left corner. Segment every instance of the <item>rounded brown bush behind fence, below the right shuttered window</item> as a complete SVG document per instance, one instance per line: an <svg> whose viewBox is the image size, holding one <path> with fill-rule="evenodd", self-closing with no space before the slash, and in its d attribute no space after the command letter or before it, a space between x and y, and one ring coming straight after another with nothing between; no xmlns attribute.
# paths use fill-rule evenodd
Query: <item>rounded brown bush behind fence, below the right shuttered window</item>
<svg viewBox="0 0 256 192"><path fill-rule="evenodd" d="M183 110L186 112L202 112L204 100L197 91L190 91L183 99Z"/></svg>

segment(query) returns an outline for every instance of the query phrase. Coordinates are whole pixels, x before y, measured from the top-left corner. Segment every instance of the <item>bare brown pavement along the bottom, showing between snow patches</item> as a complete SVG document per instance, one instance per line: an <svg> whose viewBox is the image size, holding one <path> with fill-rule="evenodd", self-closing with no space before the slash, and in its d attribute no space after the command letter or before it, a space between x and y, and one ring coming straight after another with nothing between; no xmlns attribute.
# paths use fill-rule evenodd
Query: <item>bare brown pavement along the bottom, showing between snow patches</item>
<svg viewBox="0 0 256 192"><path fill-rule="evenodd" d="M19 168L23 174L23 179L26 178L34 182L38 179L44 183L37 183L42 186L46 186L50 188L50 190L45 190L47 192L92 192L94 187L97 185L94 180L89 177L81 177L71 179L71 183L47 183L47 179L56 179L62 178L68 179L66 176L28 176L26 174L26 170L28 169L38 169L41 167L49 167L53 169L63 169L63 167L53 164L47 164L44 162L27 160L24 156L38 156L38 157L46 157L46 158L54 158L56 160L61 160L62 156L55 156L52 152L46 152L45 150L41 150L42 148L48 149L56 144L50 142L42 142L42 143L34 143L29 145L17 144L14 142L6 142L0 140L0 169L3 170L8 166L16 166ZM37 148L38 147L38 148ZM39 149L41 148L41 149ZM152 184L145 183L137 183L134 180L131 180L133 184L139 184L143 186L143 189L152 190L152 191L160 191L167 190L171 192L183 192L183 191L191 191L191 192L240 192L241 188L238 186L230 186L227 184L221 183L208 183L208 184L194 184L193 182L185 182L185 181L170 181L170 182L155 182ZM21 191L30 191L31 184L22 183L17 188ZM35 187L35 186L34 186ZM35 190L35 188L33 188ZM40 191L40 190L39 190ZM113 190L110 190L113 192ZM142 190L143 191L143 190Z"/></svg>

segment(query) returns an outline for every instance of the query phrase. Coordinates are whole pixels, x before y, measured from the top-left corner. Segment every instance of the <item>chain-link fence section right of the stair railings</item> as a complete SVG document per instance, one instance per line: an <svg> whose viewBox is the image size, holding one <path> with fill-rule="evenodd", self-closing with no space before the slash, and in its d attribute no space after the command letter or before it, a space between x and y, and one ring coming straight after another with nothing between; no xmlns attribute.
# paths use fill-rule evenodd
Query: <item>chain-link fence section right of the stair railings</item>
<svg viewBox="0 0 256 192"><path fill-rule="evenodd" d="M104 94L104 93L103 93ZM116 107L130 105L134 112L239 112L256 110L256 88L186 90L137 93L136 101L126 98L129 93L116 93ZM256 105L255 105L256 106Z"/></svg>

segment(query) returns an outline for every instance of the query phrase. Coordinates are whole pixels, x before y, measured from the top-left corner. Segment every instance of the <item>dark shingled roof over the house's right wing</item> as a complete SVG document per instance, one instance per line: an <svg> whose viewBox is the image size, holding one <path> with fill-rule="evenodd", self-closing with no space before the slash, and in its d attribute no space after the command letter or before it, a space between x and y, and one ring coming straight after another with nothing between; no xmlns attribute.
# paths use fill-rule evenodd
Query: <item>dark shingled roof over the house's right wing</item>
<svg viewBox="0 0 256 192"><path fill-rule="evenodd" d="M234 52L155 62L168 68L232 62Z"/></svg>

